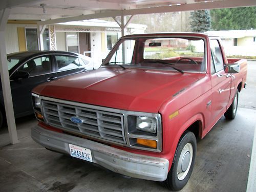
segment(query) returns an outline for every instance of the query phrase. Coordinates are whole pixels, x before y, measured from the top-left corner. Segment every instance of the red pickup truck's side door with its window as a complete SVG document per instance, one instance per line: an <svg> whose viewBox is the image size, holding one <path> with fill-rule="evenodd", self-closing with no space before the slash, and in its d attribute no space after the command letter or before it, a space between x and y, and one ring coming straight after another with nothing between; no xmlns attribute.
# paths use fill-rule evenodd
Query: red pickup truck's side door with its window
<svg viewBox="0 0 256 192"><path fill-rule="evenodd" d="M230 99L231 77L224 71L224 60L218 39L210 39L211 51L211 122L216 122L226 111Z"/></svg>

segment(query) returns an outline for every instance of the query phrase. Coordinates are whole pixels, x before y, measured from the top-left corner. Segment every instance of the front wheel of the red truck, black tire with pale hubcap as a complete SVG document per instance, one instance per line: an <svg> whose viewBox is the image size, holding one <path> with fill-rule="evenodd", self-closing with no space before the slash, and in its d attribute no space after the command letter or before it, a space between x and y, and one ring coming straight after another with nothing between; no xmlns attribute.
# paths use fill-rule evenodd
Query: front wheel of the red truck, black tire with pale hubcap
<svg viewBox="0 0 256 192"><path fill-rule="evenodd" d="M188 182L195 163L197 140L192 132L186 132L180 139L172 167L163 185L169 190L180 190Z"/></svg>

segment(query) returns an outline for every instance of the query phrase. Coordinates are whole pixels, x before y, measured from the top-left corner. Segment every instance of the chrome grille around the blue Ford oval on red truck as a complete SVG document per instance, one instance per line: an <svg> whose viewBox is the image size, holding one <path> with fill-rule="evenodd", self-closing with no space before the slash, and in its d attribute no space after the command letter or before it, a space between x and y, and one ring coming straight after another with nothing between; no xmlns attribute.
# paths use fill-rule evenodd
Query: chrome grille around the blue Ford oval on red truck
<svg viewBox="0 0 256 192"><path fill-rule="evenodd" d="M124 138L123 115L118 113L82 108L80 106L42 100L46 122L62 130L92 136L103 140L126 143ZM78 117L82 123L70 119Z"/></svg>

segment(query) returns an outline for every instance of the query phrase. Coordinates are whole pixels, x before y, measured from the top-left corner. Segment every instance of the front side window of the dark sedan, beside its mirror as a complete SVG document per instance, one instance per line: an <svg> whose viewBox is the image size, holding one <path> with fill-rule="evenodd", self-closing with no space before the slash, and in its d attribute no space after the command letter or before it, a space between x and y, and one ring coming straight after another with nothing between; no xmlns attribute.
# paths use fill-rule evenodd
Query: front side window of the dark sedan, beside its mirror
<svg viewBox="0 0 256 192"><path fill-rule="evenodd" d="M50 56L40 56L27 61L18 71L29 72L29 77L52 72L52 62Z"/></svg>

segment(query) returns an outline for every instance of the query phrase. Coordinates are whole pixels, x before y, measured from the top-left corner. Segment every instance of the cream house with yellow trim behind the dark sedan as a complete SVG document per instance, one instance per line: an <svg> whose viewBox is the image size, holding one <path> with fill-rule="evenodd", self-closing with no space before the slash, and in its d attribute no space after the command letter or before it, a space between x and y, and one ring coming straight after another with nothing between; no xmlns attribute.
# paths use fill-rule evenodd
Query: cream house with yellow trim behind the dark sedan
<svg viewBox="0 0 256 192"><path fill-rule="evenodd" d="M144 33L145 25L129 24L127 34ZM101 60L110 52L121 30L116 22L91 19L49 25L43 34L44 50L71 51ZM9 20L6 52L38 50L36 21Z"/></svg>

